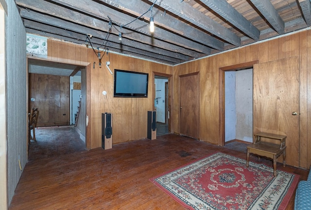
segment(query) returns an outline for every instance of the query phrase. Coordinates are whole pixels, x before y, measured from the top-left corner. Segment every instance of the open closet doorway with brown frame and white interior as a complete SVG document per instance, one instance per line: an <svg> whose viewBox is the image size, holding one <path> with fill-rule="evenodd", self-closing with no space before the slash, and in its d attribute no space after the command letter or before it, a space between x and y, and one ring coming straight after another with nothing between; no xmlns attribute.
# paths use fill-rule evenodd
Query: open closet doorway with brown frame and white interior
<svg viewBox="0 0 311 210"><path fill-rule="evenodd" d="M258 62L219 68L220 146L232 140L253 142L253 66Z"/></svg>

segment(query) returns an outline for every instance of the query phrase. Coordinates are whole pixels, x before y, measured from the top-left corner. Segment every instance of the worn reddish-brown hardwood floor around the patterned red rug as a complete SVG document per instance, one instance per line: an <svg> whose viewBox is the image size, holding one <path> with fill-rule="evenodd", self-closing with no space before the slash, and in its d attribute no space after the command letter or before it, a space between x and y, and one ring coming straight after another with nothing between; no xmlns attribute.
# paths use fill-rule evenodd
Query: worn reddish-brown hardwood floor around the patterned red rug
<svg viewBox="0 0 311 210"><path fill-rule="evenodd" d="M9 210L185 210L149 179L215 152L246 158L244 143L219 147L175 134L90 151L68 126L37 129L36 138ZM277 169L307 179L307 170L280 163ZM287 210L293 209L294 195Z"/></svg>

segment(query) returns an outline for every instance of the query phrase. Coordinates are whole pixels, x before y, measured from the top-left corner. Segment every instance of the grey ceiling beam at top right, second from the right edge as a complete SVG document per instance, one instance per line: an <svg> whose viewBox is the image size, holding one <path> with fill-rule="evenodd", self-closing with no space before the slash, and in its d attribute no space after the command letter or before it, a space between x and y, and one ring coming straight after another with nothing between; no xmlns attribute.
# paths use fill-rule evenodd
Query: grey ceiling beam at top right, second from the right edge
<svg viewBox="0 0 311 210"><path fill-rule="evenodd" d="M270 0L250 0L259 12L268 20L278 34L284 33L285 23Z"/></svg>

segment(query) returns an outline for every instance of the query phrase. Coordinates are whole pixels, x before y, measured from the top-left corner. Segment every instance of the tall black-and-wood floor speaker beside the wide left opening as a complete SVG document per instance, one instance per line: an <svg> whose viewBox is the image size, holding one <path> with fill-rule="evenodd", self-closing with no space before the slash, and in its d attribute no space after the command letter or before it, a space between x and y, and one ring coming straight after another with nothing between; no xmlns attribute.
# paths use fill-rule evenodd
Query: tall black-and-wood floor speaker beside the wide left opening
<svg viewBox="0 0 311 210"><path fill-rule="evenodd" d="M112 148L112 114L102 113L102 148Z"/></svg>

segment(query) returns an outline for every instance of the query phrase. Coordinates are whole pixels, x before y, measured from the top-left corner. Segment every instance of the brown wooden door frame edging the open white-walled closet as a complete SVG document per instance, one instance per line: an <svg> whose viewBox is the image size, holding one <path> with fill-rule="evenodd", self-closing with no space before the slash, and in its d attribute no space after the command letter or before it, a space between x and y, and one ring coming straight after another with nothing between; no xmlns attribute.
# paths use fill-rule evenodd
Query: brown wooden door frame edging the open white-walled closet
<svg viewBox="0 0 311 210"><path fill-rule="evenodd" d="M225 72L253 68L257 63L259 60L219 68L219 146L225 146Z"/></svg>

